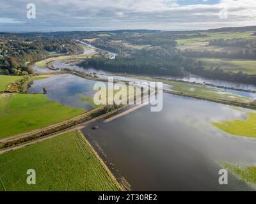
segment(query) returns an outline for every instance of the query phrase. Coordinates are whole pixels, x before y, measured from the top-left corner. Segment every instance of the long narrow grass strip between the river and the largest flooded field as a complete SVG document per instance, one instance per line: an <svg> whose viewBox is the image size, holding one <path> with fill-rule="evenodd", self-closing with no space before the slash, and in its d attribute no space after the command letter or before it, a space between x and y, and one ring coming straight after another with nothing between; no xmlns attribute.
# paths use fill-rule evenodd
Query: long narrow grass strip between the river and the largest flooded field
<svg viewBox="0 0 256 204"><path fill-rule="evenodd" d="M253 101L250 98L239 96L237 94L231 94L229 92L214 89L212 87L207 87L205 85L189 84L184 82L173 82L170 80L161 80L158 78L156 79L150 77L131 76L131 78L138 78L141 80L148 80L154 82L163 82L163 84L170 85L170 89L172 89L172 91L182 92L184 94L195 95L209 99L223 99L227 101L237 101L240 103L249 103Z"/></svg>

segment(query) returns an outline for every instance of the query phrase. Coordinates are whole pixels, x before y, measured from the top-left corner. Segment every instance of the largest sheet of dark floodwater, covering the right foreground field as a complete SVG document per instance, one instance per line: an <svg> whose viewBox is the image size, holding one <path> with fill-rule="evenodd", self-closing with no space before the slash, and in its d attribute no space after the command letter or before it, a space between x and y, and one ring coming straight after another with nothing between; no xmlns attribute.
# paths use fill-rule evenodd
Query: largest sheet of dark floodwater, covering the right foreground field
<svg viewBox="0 0 256 204"><path fill-rule="evenodd" d="M218 184L218 162L256 163L256 140L234 137L211 122L245 119L231 106L164 94L161 112L145 106L83 133L134 191L246 191L250 186L228 174ZM93 126L99 129L93 130Z"/></svg>

